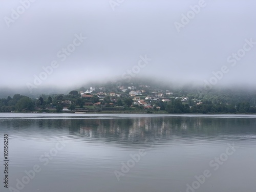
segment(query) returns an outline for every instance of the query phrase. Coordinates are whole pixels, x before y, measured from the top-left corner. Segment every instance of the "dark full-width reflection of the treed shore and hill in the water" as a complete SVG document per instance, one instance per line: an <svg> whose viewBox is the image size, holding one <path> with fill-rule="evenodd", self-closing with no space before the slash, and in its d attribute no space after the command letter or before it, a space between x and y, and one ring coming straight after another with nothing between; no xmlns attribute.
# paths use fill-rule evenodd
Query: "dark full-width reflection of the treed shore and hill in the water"
<svg viewBox="0 0 256 192"><path fill-rule="evenodd" d="M8 129L68 129L70 134L90 139L117 142L143 142L220 134L255 133L254 118L210 117L143 117L117 119L0 119L0 126Z"/></svg>

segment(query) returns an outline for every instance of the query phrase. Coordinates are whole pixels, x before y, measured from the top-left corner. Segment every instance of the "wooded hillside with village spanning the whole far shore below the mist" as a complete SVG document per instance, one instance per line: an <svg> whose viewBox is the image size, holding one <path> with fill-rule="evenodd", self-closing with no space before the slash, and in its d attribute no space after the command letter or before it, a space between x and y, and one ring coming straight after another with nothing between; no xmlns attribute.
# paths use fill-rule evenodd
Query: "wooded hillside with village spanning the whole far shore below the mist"
<svg viewBox="0 0 256 192"><path fill-rule="evenodd" d="M0 99L0 112L32 113L256 113L255 94L194 88L172 89L159 84L89 84L67 94L29 98L15 94ZM170 88L170 89L168 89Z"/></svg>

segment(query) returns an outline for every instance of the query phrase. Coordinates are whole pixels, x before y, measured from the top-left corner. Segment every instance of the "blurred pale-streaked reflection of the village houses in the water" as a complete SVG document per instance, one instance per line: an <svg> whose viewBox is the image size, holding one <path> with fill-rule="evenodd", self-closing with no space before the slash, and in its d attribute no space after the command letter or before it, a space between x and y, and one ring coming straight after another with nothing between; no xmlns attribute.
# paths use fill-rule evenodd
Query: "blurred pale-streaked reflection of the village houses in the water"
<svg viewBox="0 0 256 192"><path fill-rule="evenodd" d="M80 134L88 138L108 138L121 142L134 142L148 139L171 138L173 135L198 129L202 119L189 118L134 118L134 119L86 119L80 124Z"/></svg>

